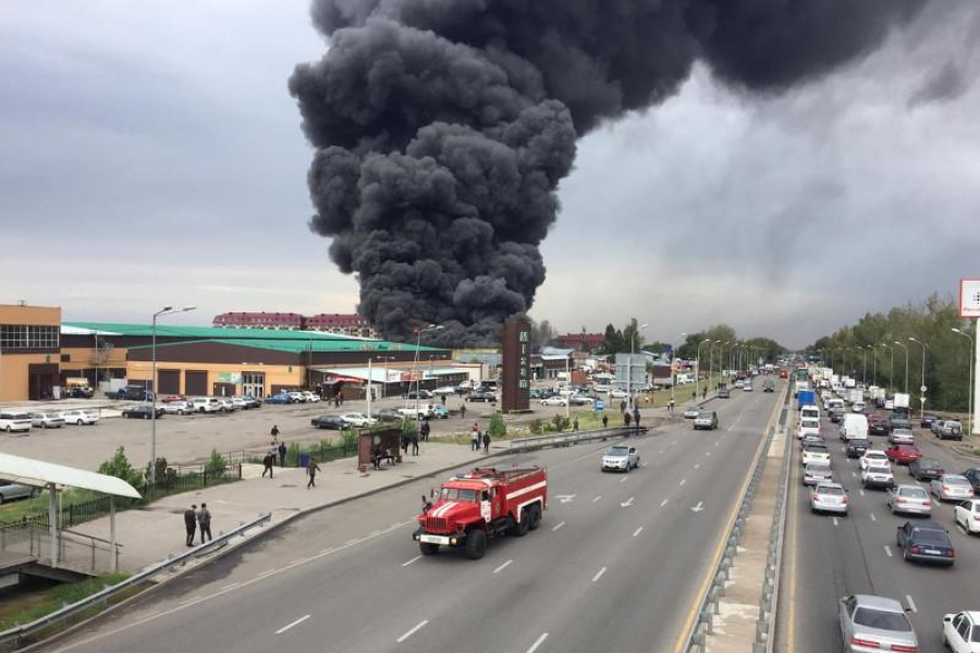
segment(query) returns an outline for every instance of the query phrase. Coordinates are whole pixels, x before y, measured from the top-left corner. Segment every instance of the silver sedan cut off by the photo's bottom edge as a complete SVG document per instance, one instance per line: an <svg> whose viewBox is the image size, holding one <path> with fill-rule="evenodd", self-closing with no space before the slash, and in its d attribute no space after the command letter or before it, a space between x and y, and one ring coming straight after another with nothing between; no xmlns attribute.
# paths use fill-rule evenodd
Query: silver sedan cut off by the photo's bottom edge
<svg viewBox="0 0 980 653"><path fill-rule="evenodd" d="M916 630L894 599L855 594L841 599L841 636L848 653L918 651Z"/></svg>

